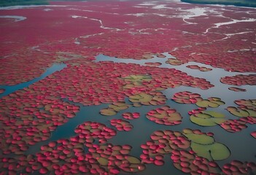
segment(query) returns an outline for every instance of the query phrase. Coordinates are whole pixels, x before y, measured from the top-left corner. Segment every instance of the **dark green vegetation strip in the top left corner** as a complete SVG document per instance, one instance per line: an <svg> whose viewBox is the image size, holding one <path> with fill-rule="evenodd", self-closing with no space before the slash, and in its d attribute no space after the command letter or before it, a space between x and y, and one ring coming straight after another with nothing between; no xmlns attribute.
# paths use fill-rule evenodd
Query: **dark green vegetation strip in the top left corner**
<svg viewBox="0 0 256 175"><path fill-rule="evenodd" d="M15 5L42 5L48 4L47 0L0 0L0 7Z"/></svg>

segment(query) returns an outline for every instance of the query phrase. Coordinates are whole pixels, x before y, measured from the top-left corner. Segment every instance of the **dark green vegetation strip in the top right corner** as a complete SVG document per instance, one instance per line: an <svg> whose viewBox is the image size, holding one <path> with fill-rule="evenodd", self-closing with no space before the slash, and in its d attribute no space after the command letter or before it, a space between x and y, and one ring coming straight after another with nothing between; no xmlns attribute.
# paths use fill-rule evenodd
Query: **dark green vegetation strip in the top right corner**
<svg viewBox="0 0 256 175"><path fill-rule="evenodd" d="M256 7L255 0L181 0L182 2L195 4L224 4L241 7Z"/></svg>

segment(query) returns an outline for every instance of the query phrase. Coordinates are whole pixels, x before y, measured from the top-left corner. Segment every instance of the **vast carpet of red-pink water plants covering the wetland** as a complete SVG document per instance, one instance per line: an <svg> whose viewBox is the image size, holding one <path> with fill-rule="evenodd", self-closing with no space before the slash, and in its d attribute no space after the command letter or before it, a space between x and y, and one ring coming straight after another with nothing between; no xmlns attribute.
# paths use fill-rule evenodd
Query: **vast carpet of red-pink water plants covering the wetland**
<svg viewBox="0 0 256 175"><path fill-rule="evenodd" d="M1 17L9 16L0 18L0 95L12 85L40 77L55 63L66 64L61 71L0 98L0 174L140 174L150 164L163 166L165 155L183 173L255 172L255 163L249 161L231 160L221 167L218 161L232 155L230 145L217 142L214 133L203 133L206 127L222 127L232 134L246 130L248 123L256 123L255 99L237 100L234 107L210 94L202 98L199 93L182 91L174 93L171 101L165 93L180 86L214 87L207 79L176 69L190 61L225 71L255 72L255 9L168 1L55 1L51 5L0 10ZM19 17L22 20L15 20ZM164 52L175 58L166 59ZM145 66L96 62L99 54L136 61L158 56L159 62ZM167 63L175 69L166 68ZM200 74L212 70L197 65L187 68L198 69ZM217 80L255 85L255 74ZM104 123L95 117L79 123L74 136L50 141L58 127L75 120L85 106L101 104L107 107L98 109L97 117L104 118ZM182 106L194 109L186 115ZM220 112L224 108L231 117ZM161 124L156 127L165 129L143 136L150 140L139 144L139 154L139 147L112 144L119 133L137 131L137 121L148 121L150 127ZM183 129L183 121L191 121L202 131L166 129ZM147 131L139 129L141 134ZM256 137L255 131L250 134Z"/></svg>

